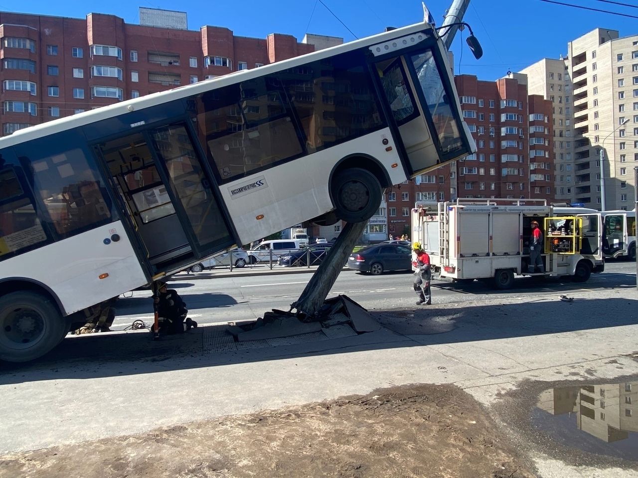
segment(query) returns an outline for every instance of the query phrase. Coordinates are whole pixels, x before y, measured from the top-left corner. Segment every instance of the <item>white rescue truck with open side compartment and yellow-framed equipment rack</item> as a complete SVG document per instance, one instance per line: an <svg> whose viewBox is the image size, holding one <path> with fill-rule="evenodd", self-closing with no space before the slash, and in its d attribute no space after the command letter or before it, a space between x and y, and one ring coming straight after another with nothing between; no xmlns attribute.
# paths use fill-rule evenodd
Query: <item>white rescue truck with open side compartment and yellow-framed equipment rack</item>
<svg viewBox="0 0 638 478"><path fill-rule="evenodd" d="M532 221L544 235L543 272L530 272ZM585 282L605 269L603 233L600 213L544 199L418 201L412 210L412 240L430 256L433 277L489 280L498 289L514 286L516 275Z"/></svg>

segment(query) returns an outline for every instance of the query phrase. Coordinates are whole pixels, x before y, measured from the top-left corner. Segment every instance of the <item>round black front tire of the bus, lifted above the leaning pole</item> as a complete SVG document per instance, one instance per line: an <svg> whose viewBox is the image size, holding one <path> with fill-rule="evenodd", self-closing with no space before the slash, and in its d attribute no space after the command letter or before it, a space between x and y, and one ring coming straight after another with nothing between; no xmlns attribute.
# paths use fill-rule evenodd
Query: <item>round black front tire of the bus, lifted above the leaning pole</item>
<svg viewBox="0 0 638 478"><path fill-rule="evenodd" d="M332 180L331 193L336 215L346 222L367 221L381 204L379 180L362 168L337 173Z"/></svg>

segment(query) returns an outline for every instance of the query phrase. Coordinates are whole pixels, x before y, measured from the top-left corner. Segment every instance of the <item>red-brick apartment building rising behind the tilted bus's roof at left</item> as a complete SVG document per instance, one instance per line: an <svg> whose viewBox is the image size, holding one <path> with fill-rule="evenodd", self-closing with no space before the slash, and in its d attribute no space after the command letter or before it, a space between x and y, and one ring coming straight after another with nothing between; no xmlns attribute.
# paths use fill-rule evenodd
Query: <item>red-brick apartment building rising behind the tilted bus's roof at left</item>
<svg viewBox="0 0 638 478"><path fill-rule="evenodd" d="M169 26L157 26L161 18L133 25L101 13L0 12L1 133L315 51L290 35L246 38L208 25L192 31L185 13L140 9L140 19L142 10L156 20L172 15Z"/></svg>

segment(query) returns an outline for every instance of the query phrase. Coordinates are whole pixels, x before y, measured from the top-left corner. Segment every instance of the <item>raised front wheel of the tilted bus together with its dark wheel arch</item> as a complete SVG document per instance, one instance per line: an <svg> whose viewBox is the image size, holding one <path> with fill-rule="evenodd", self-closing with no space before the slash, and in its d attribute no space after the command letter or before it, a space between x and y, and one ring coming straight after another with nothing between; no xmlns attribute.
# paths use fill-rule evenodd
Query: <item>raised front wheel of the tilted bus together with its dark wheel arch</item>
<svg viewBox="0 0 638 478"><path fill-rule="evenodd" d="M367 221L379 208L382 189L389 185L387 173L373 157L345 157L330 174L329 192L336 216L346 222Z"/></svg>

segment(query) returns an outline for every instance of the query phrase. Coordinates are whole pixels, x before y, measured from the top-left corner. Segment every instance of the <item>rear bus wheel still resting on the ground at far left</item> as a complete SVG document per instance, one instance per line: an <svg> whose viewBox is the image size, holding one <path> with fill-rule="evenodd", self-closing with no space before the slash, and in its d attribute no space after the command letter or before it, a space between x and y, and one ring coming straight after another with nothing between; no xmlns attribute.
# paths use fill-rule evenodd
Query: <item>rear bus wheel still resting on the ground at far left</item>
<svg viewBox="0 0 638 478"><path fill-rule="evenodd" d="M0 297L0 360L26 362L43 356L66 335L56 304L32 291Z"/></svg>

